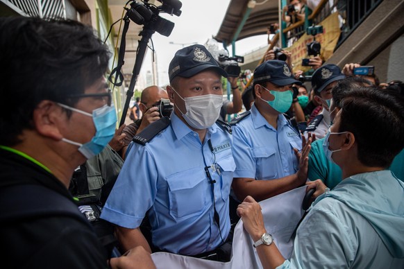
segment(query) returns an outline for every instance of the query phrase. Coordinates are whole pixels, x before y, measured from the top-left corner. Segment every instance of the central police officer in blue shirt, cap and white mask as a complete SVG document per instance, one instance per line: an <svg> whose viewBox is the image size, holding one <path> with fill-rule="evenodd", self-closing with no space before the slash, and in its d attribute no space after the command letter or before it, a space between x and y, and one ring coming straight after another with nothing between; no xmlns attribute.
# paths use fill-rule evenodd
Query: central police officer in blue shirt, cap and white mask
<svg viewBox="0 0 404 269"><path fill-rule="evenodd" d="M145 215L159 250L205 257L226 242L235 162L230 125L217 121L221 76L227 73L198 44L171 60L171 120L163 117L135 136L101 215L118 225L124 250L151 250L140 231Z"/></svg>

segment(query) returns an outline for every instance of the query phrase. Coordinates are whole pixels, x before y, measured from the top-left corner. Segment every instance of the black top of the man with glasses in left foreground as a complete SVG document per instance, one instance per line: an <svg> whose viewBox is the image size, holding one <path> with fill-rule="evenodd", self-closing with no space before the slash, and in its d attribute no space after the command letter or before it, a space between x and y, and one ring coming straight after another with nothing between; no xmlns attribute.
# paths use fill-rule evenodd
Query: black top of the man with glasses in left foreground
<svg viewBox="0 0 404 269"><path fill-rule="evenodd" d="M20 205L37 199L30 191L7 201L1 199L5 193L20 186L42 186L52 196L60 196L74 205L62 182L25 157L0 148L0 171L0 208L12 202L18 212ZM58 204L55 200L47 202ZM0 211L0 260L6 268L107 268L106 252L85 221L69 214L56 216L46 212L6 219L4 214Z"/></svg>

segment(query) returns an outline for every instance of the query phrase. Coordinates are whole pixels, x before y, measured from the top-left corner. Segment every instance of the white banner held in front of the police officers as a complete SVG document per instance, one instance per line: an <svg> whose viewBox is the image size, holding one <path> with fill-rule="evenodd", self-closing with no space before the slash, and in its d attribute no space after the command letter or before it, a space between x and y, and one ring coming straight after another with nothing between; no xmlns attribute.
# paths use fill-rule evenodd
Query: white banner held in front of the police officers
<svg viewBox="0 0 404 269"><path fill-rule="evenodd" d="M301 209L305 196L306 186L282 193L260 202L262 215L264 216L265 229L272 234L273 240L280 253L289 259L293 251L292 234L298 221L303 216ZM205 268L205 269L253 269L262 268L258 254L253 248L253 241L239 220L233 235L232 258L224 263L220 261L208 261L167 252L151 254L156 268Z"/></svg>

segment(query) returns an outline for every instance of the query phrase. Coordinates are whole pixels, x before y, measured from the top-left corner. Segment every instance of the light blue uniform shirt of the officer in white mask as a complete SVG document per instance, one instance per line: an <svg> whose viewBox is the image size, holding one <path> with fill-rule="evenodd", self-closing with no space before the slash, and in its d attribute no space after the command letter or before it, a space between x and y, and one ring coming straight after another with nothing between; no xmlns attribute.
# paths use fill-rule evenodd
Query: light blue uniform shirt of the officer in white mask
<svg viewBox="0 0 404 269"><path fill-rule="evenodd" d="M228 196L235 162L231 135L214 124L203 145L199 135L174 113L171 124L145 146L133 144L101 218L137 228L146 212L153 244L168 252L194 255L214 250L230 230ZM212 143L212 150L208 141ZM205 159L205 162L204 162ZM214 221L211 184L220 217Z"/></svg>

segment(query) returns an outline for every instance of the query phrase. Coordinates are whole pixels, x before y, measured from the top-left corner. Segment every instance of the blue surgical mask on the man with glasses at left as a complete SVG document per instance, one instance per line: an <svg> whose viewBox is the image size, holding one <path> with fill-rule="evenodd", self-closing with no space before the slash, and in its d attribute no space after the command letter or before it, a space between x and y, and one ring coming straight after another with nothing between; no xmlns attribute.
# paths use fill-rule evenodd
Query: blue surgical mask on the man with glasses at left
<svg viewBox="0 0 404 269"><path fill-rule="evenodd" d="M103 107L99 107L96 110L93 110L92 114L78 110L74 107L69 107L68 105L63 105L61 103L58 103L58 105L66 108L67 110L72 110L74 112L92 117L96 133L94 137L92 137L91 141L81 144L62 138L62 141L78 146L78 151L80 151L81 154L83 154L87 159L101 153L103 148L105 148L112 137L114 137L115 125L117 124L117 113L115 112L115 107L113 105L104 105Z"/></svg>

